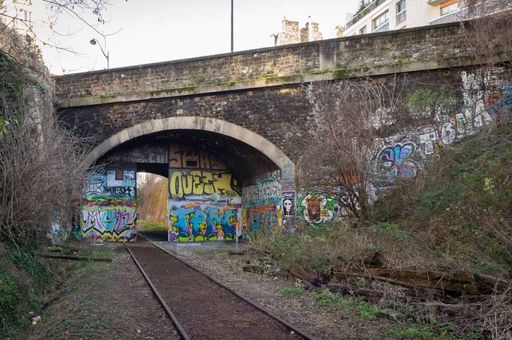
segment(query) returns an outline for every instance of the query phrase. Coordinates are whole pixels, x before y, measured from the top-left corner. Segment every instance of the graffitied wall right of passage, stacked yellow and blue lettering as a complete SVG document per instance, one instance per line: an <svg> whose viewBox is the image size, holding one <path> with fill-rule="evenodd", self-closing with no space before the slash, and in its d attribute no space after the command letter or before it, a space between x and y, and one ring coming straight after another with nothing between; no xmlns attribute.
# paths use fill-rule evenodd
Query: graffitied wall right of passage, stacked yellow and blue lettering
<svg viewBox="0 0 512 340"><path fill-rule="evenodd" d="M169 149L169 241L234 240L241 235L241 188L217 157Z"/></svg>

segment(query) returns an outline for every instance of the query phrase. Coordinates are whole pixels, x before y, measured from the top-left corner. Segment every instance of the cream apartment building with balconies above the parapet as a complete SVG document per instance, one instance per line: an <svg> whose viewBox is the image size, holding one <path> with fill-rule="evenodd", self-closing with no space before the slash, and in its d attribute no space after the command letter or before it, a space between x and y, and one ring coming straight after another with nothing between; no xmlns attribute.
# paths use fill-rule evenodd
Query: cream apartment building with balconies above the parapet
<svg viewBox="0 0 512 340"><path fill-rule="evenodd" d="M343 36L451 23L462 14L457 0L374 0L347 17Z"/></svg>

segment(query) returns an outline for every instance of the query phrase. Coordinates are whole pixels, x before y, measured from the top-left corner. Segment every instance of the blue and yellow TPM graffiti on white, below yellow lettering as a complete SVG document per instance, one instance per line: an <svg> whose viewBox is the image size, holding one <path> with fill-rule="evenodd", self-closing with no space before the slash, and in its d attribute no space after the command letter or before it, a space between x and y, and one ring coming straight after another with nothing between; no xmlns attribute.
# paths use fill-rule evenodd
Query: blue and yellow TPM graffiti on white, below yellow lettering
<svg viewBox="0 0 512 340"><path fill-rule="evenodd" d="M212 207L208 204L187 203L169 209L169 241L234 240L239 219L232 206Z"/></svg>

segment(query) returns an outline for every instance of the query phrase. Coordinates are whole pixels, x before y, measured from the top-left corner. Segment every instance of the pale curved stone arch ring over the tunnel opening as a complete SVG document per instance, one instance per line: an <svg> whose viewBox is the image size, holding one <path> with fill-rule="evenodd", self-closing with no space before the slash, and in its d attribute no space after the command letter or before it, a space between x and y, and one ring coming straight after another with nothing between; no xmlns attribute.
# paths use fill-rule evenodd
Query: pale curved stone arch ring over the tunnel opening
<svg viewBox="0 0 512 340"><path fill-rule="evenodd" d="M114 147L124 142L144 135L170 130L200 130L237 139L268 157L282 172L294 173L295 165L292 160L272 142L259 134L225 120L194 116L147 120L126 128L97 145L89 155L89 163L93 164Z"/></svg>

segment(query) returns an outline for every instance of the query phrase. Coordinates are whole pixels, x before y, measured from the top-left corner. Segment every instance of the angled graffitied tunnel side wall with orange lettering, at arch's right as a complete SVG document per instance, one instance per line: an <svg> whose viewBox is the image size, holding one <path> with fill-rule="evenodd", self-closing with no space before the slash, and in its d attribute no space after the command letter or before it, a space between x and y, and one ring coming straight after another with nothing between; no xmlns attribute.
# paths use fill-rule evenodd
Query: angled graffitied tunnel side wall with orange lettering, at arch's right
<svg viewBox="0 0 512 340"><path fill-rule="evenodd" d="M244 237L251 242L283 233L281 174L275 172L242 189Z"/></svg>

